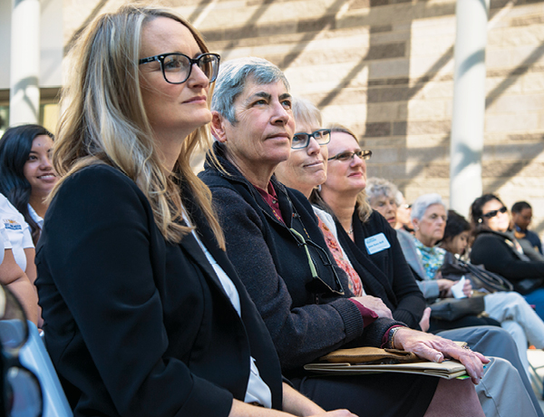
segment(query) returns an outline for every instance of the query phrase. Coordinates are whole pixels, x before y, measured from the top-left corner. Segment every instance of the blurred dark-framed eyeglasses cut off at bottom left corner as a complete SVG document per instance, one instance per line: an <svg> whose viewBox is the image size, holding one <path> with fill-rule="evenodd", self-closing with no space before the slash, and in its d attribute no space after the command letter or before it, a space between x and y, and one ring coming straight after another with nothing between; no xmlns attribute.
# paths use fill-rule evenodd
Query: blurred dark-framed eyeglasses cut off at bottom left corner
<svg viewBox="0 0 544 417"><path fill-rule="evenodd" d="M40 417L44 396L38 378L19 361L19 352L28 340L23 307L4 286L0 287L1 378L5 415Z"/></svg>

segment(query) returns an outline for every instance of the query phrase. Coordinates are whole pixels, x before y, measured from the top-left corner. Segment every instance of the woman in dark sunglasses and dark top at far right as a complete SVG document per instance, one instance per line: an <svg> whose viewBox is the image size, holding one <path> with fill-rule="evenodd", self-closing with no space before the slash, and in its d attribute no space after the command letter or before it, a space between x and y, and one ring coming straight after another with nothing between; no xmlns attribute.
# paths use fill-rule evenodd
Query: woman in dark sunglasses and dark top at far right
<svg viewBox="0 0 544 417"><path fill-rule="evenodd" d="M508 208L494 194L484 194L471 205L474 241L471 263L504 276L527 302L536 305L544 320L544 262L531 260L509 231Z"/></svg>

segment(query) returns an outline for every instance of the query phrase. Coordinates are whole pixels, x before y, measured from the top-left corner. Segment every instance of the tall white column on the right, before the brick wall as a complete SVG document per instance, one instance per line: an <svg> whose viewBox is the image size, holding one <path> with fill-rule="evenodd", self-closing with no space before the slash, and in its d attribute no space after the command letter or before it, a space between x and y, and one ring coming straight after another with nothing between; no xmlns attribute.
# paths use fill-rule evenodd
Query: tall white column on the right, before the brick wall
<svg viewBox="0 0 544 417"><path fill-rule="evenodd" d="M489 0L457 0L450 206L464 216L481 196L485 112L485 45Z"/></svg>

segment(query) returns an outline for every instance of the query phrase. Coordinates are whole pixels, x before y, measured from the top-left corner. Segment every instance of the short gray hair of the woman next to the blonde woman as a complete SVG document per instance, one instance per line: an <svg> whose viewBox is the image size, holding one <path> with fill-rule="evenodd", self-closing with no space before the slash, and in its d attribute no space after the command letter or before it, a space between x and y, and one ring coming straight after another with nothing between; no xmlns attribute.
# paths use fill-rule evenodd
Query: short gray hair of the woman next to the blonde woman
<svg viewBox="0 0 544 417"><path fill-rule="evenodd" d="M235 124L234 101L246 88L248 80L257 84L283 82L290 90L286 75L273 63L263 58L250 56L221 63L211 99L211 110L219 112L231 124Z"/></svg>

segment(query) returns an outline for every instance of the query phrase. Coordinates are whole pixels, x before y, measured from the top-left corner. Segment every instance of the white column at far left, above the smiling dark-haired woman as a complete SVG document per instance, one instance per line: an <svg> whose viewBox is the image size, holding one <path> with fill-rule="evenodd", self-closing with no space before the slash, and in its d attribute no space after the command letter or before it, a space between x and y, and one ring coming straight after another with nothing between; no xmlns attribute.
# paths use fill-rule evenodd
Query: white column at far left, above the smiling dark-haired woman
<svg viewBox="0 0 544 417"><path fill-rule="evenodd" d="M12 0L9 124L37 123L40 113L40 1Z"/></svg>

